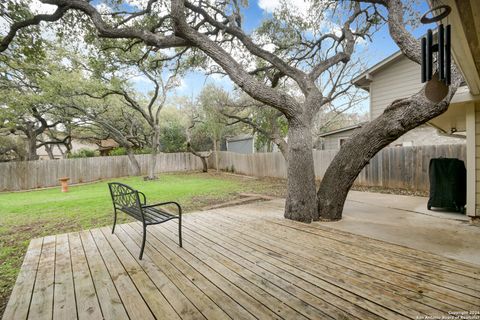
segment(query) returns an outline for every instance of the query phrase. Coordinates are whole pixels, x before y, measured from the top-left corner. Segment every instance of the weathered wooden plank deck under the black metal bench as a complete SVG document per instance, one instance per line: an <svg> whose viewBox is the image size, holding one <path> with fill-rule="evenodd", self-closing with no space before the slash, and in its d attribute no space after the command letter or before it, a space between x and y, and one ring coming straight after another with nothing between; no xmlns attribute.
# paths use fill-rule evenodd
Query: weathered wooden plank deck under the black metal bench
<svg viewBox="0 0 480 320"><path fill-rule="evenodd" d="M424 319L480 311L480 267L325 225L270 202L31 241L4 319ZM440 235L441 236L441 235Z"/></svg>

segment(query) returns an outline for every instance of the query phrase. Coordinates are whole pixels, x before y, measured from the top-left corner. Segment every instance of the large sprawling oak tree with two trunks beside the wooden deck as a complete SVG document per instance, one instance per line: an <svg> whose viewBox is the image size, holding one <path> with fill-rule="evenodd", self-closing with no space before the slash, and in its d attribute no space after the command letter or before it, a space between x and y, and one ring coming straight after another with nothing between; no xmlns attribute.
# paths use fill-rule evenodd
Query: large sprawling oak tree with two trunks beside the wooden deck
<svg viewBox="0 0 480 320"><path fill-rule="evenodd" d="M131 45L155 50L178 48L175 55L180 56L201 53L252 98L281 112L289 126L285 217L298 221L340 218L346 194L368 160L408 130L444 112L460 83L454 69L450 93L441 103L431 103L422 92L392 103L342 147L317 195L312 120L322 106L348 90L349 84L336 80L341 77L329 76L341 75L352 63L358 39L372 33L382 20L382 10L392 38L408 58L419 61L419 44L405 29L400 0L312 1L307 20L287 14L284 2L281 10L253 33L243 28L242 7L236 0L149 0L141 8L112 3L107 13L83 0L41 1L56 5L56 11L13 19L0 51L6 50L17 34L21 37L23 28L66 19L73 11L89 18L89 27L98 37L129 39ZM258 59L262 66L248 64ZM262 74L265 80L259 79ZM272 77L287 79L294 90L275 88L274 81L269 81ZM319 86L326 78L332 79L327 89Z"/></svg>

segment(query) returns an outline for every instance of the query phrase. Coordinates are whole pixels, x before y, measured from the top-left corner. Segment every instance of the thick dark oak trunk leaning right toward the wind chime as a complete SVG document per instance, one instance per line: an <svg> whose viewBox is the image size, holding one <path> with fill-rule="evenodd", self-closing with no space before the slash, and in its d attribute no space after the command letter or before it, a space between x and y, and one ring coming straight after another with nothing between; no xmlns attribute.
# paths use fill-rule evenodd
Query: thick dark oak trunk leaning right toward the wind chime
<svg viewBox="0 0 480 320"><path fill-rule="evenodd" d="M342 145L328 167L318 190L318 215L315 220L335 221L342 218L348 191L362 169L380 150L406 132L418 127L448 109L461 77L452 73L447 98L438 104L429 101L423 89L412 97L396 100L382 115L365 125Z"/></svg>

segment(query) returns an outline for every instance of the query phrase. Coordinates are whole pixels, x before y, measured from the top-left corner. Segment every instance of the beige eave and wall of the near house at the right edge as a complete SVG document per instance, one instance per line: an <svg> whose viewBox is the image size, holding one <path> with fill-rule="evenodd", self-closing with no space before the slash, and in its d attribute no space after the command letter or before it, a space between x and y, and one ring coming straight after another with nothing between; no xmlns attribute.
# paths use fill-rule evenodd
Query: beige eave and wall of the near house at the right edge
<svg viewBox="0 0 480 320"><path fill-rule="evenodd" d="M457 92L448 110L432 123L444 132L466 132L467 215L480 221L480 5L477 0L444 0L452 12L452 54L466 87Z"/></svg>

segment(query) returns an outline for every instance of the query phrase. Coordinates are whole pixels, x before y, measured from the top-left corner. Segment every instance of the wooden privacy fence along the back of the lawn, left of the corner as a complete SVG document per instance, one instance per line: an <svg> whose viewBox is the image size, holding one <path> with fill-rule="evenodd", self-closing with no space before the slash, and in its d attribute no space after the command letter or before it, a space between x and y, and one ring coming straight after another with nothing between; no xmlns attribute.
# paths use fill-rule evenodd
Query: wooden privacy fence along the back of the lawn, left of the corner
<svg viewBox="0 0 480 320"><path fill-rule="evenodd" d="M147 174L150 155L136 155L142 175ZM202 169L199 158L190 153L162 153L157 156L156 172ZM38 160L0 163L0 191L17 191L59 185L58 179L69 177L69 183L133 175L127 156L94 157L65 160Z"/></svg>

